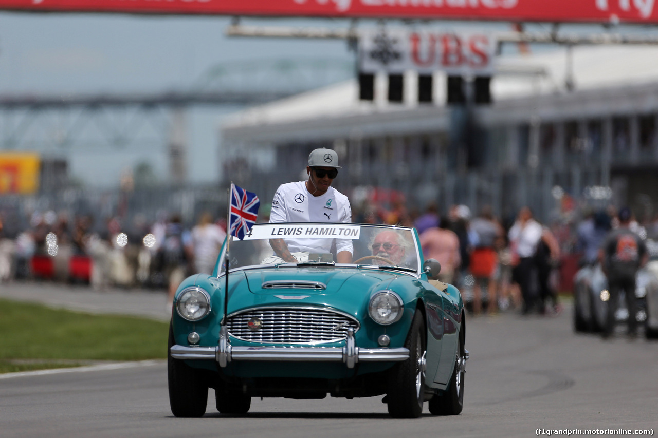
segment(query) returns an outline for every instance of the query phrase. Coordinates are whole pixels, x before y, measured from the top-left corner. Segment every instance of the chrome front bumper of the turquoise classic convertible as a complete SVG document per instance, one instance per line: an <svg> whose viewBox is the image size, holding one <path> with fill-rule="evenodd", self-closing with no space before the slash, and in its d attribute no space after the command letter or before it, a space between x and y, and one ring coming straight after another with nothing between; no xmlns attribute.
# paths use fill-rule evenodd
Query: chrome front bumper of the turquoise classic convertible
<svg viewBox="0 0 658 438"><path fill-rule="evenodd" d="M409 349L362 349L355 345L352 330L345 347L233 347L226 333L220 332L217 347L184 347L173 345L174 359L216 360L223 368L234 360L271 362L343 362L354 368L358 362L399 362L409 358Z"/></svg>

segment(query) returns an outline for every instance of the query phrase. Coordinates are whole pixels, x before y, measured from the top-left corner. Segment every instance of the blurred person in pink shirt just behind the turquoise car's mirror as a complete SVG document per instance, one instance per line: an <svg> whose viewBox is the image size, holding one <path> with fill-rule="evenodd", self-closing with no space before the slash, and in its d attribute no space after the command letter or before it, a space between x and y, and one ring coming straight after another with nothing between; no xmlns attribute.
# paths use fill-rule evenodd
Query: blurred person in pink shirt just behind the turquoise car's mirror
<svg viewBox="0 0 658 438"><path fill-rule="evenodd" d="M442 220L438 227L428 228L419 236L425 260L434 258L440 262L439 280L443 283L452 283L455 280L455 272L461 264L459 238L454 231L447 228L448 226L449 222Z"/></svg>

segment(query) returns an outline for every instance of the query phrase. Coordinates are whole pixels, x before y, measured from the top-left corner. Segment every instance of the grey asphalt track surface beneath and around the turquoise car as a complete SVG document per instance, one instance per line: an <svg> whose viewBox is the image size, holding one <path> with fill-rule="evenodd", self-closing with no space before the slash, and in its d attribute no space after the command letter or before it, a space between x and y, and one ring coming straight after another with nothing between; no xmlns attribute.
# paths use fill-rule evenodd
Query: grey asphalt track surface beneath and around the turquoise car
<svg viewBox="0 0 658 438"><path fill-rule="evenodd" d="M166 318L164 293L45 286L0 285L0 297ZM0 436L530 437L537 429L658 429L656 342L574 335L567 306L556 317L468 318L466 347L465 407L454 417L425 408L418 420L393 420L381 397L255 399L249 414L224 416L211 391L203 418L174 418L166 364L147 361L0 375Z"/></svg>

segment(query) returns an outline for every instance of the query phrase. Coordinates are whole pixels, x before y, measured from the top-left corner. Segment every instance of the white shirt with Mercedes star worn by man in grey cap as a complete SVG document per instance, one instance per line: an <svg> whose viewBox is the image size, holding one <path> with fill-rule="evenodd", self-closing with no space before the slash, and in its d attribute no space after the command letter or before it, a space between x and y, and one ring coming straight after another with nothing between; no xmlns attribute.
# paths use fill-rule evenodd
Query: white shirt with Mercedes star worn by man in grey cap
<svg viewBox="0 0 658 438"><path fill-rule="evenodd" d="M280 222L352 222L352 208L347 196L329 187L321 196L313 196L306 182L286 183L279 186L272 199L270 223ZM286 238L291 253L329 253L336 241L336 253L353 254L351 239L291 239Z"/></svg>

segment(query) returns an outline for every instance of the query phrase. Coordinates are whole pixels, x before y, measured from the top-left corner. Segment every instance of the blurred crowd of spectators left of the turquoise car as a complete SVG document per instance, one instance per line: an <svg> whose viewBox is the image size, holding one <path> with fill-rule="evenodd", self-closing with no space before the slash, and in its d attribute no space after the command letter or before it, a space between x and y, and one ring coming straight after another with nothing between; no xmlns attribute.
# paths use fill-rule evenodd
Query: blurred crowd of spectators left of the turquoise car
<svg viewBox="0 0 658 438"><path fill-rule="evenodd" d="M0 216L0 282L52 280L107 287L152 287L170 294L193 272L213 272L226 236L226 220L204 212L191 227L180 215L129 223L89 215L35 213L29 226L9 232Z"/></svg>

